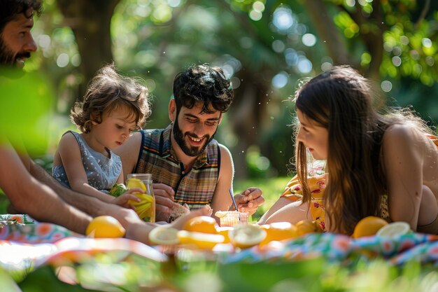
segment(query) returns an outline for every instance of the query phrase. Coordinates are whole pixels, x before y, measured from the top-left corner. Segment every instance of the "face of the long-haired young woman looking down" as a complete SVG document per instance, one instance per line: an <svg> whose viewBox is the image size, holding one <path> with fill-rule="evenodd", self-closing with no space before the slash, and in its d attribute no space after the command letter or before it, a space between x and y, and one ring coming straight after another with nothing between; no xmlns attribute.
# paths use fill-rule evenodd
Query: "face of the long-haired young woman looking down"
<svg viewBox="0 0 438 292"><path fill-rule="evenodd" d="M321 127L314 120L304 116L302 111L297 109L299 120L299 131L297 140L309 148L313 158L316 160L327 159L328 153L328 130Z"/></svg>

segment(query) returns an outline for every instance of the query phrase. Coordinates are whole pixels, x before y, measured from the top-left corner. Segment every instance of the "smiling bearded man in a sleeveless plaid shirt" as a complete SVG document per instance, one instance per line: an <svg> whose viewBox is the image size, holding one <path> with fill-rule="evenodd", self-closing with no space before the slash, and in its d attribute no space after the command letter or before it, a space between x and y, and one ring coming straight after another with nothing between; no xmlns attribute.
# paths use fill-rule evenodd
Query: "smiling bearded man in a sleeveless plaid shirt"
<svg viewBox="0 0 438 292"><path fill-rule="evenodd" d="M193 65L176 75L173 93L169 126L136 132L115 150L125 174L152 174L162 221L169 221L166 211L172 208L160 203L164 198L191 209L211 204L213 214L233 210L232 156L213 139L234 98L229 81L220 67ZM264 202L260 188L248 188L234 197L239 211L251 215Z"/></svg>

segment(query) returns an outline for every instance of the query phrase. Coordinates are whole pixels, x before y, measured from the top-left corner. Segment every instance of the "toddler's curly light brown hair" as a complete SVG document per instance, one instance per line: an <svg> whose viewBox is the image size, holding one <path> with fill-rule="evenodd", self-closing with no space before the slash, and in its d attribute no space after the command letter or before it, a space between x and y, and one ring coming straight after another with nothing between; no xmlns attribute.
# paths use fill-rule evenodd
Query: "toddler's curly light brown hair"
<svg viewBox="0 0 438 292"><path fill-rule="evenodd" d="M83 102L76 102L71 109L70 118L81 132L87 133L92 122L101 123L104 113L111 113L120 106L129 109L129 116L135 116L136 126L141 128L150 116L148 88L135 78L121 76L114 64L108 64L94 76Z"/></svg>

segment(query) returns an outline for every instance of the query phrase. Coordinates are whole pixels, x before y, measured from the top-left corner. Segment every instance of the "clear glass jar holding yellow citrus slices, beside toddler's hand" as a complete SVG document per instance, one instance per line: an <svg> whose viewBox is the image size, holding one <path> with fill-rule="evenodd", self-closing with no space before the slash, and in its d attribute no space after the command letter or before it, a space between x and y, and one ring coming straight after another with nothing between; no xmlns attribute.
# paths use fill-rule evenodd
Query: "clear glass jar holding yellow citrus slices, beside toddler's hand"
<svg viewBox="0 0 438 292"><path fill-rule="evenodd" d="M129 180L134 179L139 179L143 182L144 188L141 185L140 187L143 188L145 192L135 194L141 199L141 202L132 203L136 209L136 213L143 221L155 222L155 195L152 186L152 174L128 174L126 181L128 188L129 186L139 187L136 186L136 183L129 183Z"/></svg>

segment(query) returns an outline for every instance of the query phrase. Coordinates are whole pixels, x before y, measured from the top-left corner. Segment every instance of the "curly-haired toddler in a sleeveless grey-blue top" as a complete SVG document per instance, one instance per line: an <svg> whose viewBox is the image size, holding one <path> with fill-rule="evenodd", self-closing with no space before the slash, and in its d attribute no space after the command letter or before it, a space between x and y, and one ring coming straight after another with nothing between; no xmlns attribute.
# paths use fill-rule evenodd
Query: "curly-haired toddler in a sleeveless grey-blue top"
<svg viewBox="0 0 438 292"><path fill-rule="evenodd" d="M59 141L52 174L64 186L80 193L129 207L139 202L133 188L120 197L108 192L123 183L122 162L113 150L125 143L150 115L148 90L135 79L121 76L113 65L99 70L83 102L71 110L71 121L80 134L66 132ZM141 190L140 190L141 191Z"/></svg>

